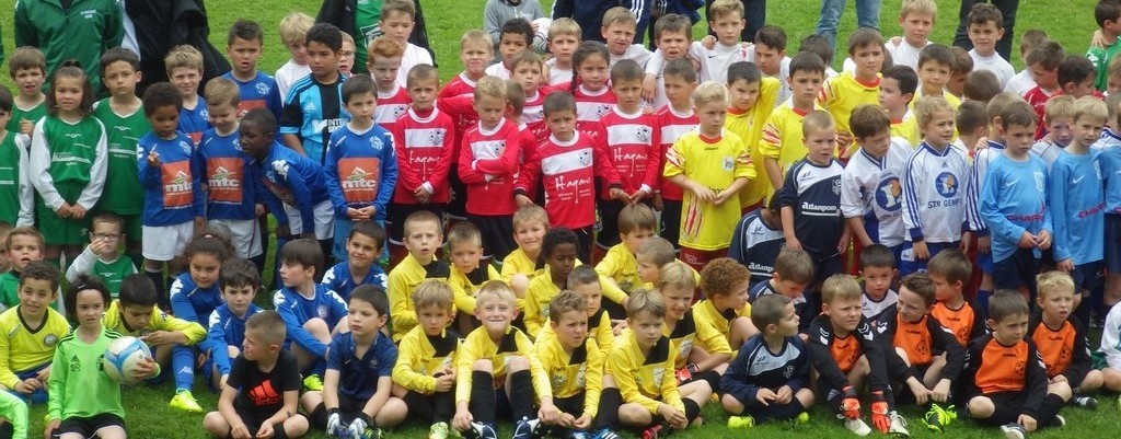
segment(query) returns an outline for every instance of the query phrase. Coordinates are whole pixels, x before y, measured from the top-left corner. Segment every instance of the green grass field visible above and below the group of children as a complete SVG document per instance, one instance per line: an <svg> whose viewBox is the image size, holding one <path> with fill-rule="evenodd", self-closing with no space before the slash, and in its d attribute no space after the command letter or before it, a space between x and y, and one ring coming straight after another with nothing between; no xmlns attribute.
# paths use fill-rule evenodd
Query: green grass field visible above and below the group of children
<svg viewBox="0 0 1121 439"><path fill-rule="evenodd" d="M29 0L24 0L29 1ZM460 36L464 30L481 26L482 8L485 0L421 0L428 19L429 38L435 47L437 62L441 64L441 76L450 78L460 72L461 65L457 57L457 46ZM543 0L546 11L549 9L552 0ZM12 10L12 0L0 1L0 10ZM225 47L225 29L233 21L240 18L257 20L262 24L266 30L266 50L260 66L263 71L274 72L287 59L287 53L279 43L276 25L280 18L290 11L304 11L315 16L321 1L317 0L287 0L287 1L234 1L221 0L206 2L210 12L211 40L220 48ZM817 20L817 0L771 0L768 2L769 22L780 25L789 32L790 41L797 41L807 34L813 32ZM849 2L847 10L842 19L839 40L851 32L855 26L854 7ZM957 25L956 15L960 2L951 0L937 1L941 13L939 20L932 35L932 39L938 43L948 43L952 39L954 28ZM1096 28L1093 19L1094 0L1023 0L1019 9L1017 24L1018 34L1031 28L1045 29L1050 36L1067 47L1068 53L1085 53L1088 37ZM896 17L898 16L898 0L887 0L883 2L881 11L881 30L884 35L899 35L900 29ZM0 26L3 28L2 41L6 49L12 49L13 37L11 34L11 15L4 13L0 17ZM704 32L703 26L694 28L694 34L701 36ZM796 43L790 44L791 48ZM843 46L839 45L839 46ZM1015 47L1015 46L1013 46ZM1015 52L1015 50L1013 50ZM837 53L836 59L843 59L846 54L843 49ZM1018 56L1013 57L1013 65L1022 67L1022 62ZM836 64L840 64L836 63ZM7 74L7 66L0 67L3 74L0 75L0 83L11 86L11 81ZM1095 337L1096 338L1096 337ZM170 381L170 380L168 380ZM173 385L167 383L159 387L136 387L124 390L124 405L128 411L128 424L130 435L135 438L196 438L204 437L201 429L202 415L186 414L167 408L167 401L173 393ZM215 394L204 390L200 383L195 392L203 407L213 409L216 400ZM1082 409L1066 409L1064 415L1067 417L1069 426L1062 430L1049 430L1034 435L1039 438L1105 438L1117 437L1121 431L1121 412L1119 412L1115 395L1101 395L1099 399L1101 407L1096 412ZM43 429L44 407L31 409L31 437L39 437ZM928 432L918 421L921 413L915 410L904 410L910 421L910 430L914 437L936 437L936 433ZM760 435L760 437L804 437L804 438L835 438L847 437L839 423L831 420L826 410L821 407L813 412L813 421L805 426L793 427L786 423L760 426L750 432L733 432L724 427L726 417L715 404L710 404L704 410L706 426L676 435L680 438L711 438L722 435ZM502 427L503 435L512 433L510 424ZM1110 433L1110 431L1113 431ZM390 430L388 435L395 438L423 438L427 433L426 426L406 424L402 428ZM995 437L999 433L994 430L983 430L972 424L970 421L958 421L945 433L954 438L982 438ZM313 433L313 438L324 437L322 433Z"/></svg>

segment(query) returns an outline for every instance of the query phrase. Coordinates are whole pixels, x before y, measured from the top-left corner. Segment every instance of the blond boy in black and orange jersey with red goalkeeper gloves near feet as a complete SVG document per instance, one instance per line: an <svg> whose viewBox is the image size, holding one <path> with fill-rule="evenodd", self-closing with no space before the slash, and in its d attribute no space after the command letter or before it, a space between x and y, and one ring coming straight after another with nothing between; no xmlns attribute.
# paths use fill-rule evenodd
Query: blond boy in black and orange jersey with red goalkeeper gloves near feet
<svg viewBox="0 0 1121 439"><path fill-rule="evenodd" d="M877 430L909 437L896 413L888 385L882 342L861 314L860 283L834 274L822 286L822 315L809 324L809 361L817 371L817 395L824 396L837 419L858 436L872 431L860 415L858 389L869 384L872 423Z"/></svg>

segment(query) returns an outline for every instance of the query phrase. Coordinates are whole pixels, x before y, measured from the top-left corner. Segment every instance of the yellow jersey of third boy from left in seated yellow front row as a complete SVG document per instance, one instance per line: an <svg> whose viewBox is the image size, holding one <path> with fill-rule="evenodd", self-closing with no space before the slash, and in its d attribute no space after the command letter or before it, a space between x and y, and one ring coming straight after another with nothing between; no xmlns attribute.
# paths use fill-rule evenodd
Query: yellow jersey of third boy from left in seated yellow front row
<svg viewBox="0 0 1121 439"><path fill-rule="evenodd" d="M584 393L584 414L593 418L600 408L603 385L603 356L595 340L587 338L572 354L556 337L538 339L534 345L541 368L549 377L553 398L572 398ZM573 413L577 418L578 413Z"/></svg>

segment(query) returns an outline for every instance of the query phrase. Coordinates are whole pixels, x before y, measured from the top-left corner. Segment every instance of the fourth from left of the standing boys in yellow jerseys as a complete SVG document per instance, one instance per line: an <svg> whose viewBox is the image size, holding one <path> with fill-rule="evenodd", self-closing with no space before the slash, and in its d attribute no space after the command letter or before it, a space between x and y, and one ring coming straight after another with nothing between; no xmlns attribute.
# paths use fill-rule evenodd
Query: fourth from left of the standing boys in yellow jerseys
<svg viewBox="0 0 1121 439"><path fill-rule="evenodd" d="M860 28L849 36L849 56L856 65L822 84L817 103L825 108L837 124L837 134L852 138L849 115L862 104L876 105L880 101L880 69L883 68L883 37L872 28ZM856 152L842 149L840 157L847 159Z"/></svg>

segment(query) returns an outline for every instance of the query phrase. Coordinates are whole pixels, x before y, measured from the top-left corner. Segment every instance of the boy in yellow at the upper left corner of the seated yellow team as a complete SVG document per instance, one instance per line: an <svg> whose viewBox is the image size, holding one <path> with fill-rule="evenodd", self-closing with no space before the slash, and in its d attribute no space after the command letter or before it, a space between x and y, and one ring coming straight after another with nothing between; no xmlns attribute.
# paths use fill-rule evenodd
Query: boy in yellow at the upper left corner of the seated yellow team
<svg viewBox="0 0 1121 439"><path fill-rule="evenodd" d="M404 243L409 254L389 272L389 317L391 338L400 342L409 329L417 326L417 312L413 306L413 289L425 279L446 281L452 272L436 258L436 249L444 241L439 217L428 211L417 211L405 218ZM455 287L452 287L455 290Z"/></svg>

